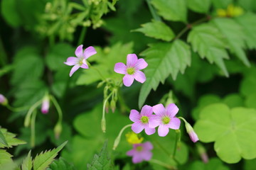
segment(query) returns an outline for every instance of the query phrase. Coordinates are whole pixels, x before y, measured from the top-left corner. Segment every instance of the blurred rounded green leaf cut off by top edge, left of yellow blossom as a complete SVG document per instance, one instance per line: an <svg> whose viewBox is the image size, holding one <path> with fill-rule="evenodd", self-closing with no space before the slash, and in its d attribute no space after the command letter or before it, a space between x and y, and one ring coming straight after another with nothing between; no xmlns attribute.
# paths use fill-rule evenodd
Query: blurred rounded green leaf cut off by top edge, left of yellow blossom
<svg viewBox="0 0 256 170"><path fill-rule="evenodd" d="M188 8L198 13L208 13L210 8L210 0L188 0Z"/></svg>

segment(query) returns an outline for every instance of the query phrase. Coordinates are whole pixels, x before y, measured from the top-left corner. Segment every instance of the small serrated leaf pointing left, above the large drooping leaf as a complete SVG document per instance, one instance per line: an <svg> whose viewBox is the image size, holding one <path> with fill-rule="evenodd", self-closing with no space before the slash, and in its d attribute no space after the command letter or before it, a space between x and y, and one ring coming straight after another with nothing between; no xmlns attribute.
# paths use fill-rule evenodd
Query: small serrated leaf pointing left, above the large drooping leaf
<svg viewBox="0 0 256 170"><path fill-rule="evenodd" d="M161 21L153 20L151 23L142 24L142 28L133 31L144 33L146 36L160 40L170 41L175 35L174 32Z"/></svg>

